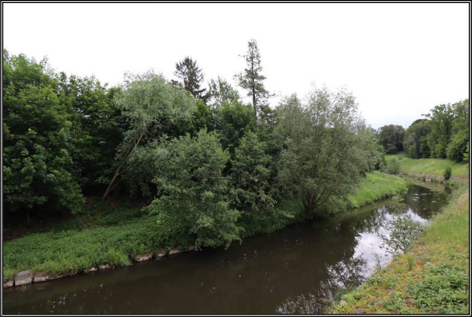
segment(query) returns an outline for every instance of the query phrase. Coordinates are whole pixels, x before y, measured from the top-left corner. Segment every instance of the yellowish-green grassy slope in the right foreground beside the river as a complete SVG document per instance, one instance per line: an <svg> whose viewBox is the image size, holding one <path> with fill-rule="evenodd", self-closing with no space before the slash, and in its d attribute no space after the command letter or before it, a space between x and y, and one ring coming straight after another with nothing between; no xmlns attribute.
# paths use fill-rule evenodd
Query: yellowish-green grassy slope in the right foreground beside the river
<svg viewBox="0 0 472 317"><path fill-rule="evenodd" d="M463 187L411 248L336 302L333 314L469 312L469 192Z"/></svg>

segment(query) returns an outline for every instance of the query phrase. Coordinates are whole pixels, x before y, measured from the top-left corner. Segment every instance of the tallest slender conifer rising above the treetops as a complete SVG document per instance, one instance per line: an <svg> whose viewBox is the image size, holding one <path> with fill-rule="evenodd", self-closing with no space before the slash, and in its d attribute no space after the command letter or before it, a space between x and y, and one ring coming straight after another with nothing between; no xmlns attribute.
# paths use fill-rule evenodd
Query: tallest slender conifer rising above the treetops
<svg viewBox="0 0 472 317"><path fill-rule="evenodd" d="M248 51L245 55L239 55L246 61L247 68L243 72L235 75L238 85L248 91L248 96L252 97L252 107L257 116L258 108L264 106L267 98L270 97L269 92L264 87L266 76L261 74L261 54L257 47L257 41L251 39L248 42Z"/></svg>

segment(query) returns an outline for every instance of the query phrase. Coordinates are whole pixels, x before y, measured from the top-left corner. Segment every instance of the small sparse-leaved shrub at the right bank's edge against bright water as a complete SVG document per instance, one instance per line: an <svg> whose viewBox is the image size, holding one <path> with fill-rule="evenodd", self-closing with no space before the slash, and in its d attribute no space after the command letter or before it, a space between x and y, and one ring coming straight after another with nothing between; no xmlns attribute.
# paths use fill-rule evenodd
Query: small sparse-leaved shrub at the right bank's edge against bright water
<svg viewBox="0 0 472 317"><path fill-rule="evenodd" d="M388 220L384 226L385 233L379 233L382 248L392 254L406 253L408 247L423 232L423 225L413 220L410 214L401 214Z"/></svg>

